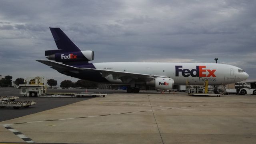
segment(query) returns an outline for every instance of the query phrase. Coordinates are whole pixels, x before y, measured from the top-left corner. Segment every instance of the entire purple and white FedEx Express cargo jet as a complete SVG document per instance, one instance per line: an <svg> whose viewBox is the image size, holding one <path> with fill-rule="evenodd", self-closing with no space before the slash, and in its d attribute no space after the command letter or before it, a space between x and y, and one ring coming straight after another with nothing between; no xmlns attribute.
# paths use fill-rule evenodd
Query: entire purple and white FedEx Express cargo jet
<svg viewBox="0 0 256 144"><path fill-rule="evenodd" d="M248 78L241 68L216 63L176 62L103 62L94 60L94 52L81 51L60 28L50 28L58 50L46 50L48 60L37 60L58 72L79 79L101 83L128 85L127 92L138 93L142 85L161 90L173 84L220 85Z"/></svg>

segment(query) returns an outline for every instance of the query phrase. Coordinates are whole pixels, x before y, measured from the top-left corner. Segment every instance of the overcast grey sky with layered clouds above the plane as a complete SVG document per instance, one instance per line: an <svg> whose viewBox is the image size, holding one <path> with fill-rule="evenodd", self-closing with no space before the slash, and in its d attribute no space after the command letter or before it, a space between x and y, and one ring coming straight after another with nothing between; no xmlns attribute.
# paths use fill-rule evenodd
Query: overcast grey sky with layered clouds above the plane
<svg viewBox="0 0 256 144"><path fill-rule="evenodd" d="M71 77L37 62L60 27L92 62L218 62L256 80L255 0L0 0L0 75ZM72 81L76 81L72 78Z"/></svg>

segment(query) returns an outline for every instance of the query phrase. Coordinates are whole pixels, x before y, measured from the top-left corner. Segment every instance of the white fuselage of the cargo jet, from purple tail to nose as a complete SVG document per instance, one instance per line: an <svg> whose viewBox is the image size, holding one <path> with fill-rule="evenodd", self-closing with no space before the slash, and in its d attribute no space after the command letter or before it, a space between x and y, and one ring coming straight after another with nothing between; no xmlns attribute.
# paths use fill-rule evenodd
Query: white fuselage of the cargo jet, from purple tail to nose
<svg viewBox="0 0 256 144"><path fill-rule="evenodd" d="M241 68L228 64L215 63L165 63L165 62L103 62L93 63L95 68L139 74L166 76L174 80L174 84L202 85L205 80L211 85L231 84L246 80L248 74ZM239 71L240 70L240 71ZM122 84L114 80L112 75L105 77L110 83Z"/></svg>

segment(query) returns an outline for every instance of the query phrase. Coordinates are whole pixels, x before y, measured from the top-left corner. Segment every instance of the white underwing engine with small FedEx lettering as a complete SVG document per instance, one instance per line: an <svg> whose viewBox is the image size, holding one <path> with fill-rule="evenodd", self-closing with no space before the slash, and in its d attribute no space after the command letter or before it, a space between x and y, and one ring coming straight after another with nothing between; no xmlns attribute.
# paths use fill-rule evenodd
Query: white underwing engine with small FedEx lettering
<svg viewBox="0 0 256 144"><path fill-rule="evenodd" d="M156 78L155 80L151 80L147 82L148 86L154 86L159 90L171 90L173 87L173 79L172 78Z"/></svg>

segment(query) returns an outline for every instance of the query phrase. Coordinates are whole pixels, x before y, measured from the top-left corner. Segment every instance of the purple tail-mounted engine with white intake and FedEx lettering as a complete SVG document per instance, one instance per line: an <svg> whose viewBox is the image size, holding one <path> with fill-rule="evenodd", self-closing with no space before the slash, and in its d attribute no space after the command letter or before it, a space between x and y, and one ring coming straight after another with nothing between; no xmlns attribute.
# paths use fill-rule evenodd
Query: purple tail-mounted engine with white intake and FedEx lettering
<svg viewBox="0 0 256 144"><path fill-rule="evenodd" d="M80 52L60 52L47 56L49 60L56 62L80 62L94 60L94 52L91 50L84 50Z"/></svg>

